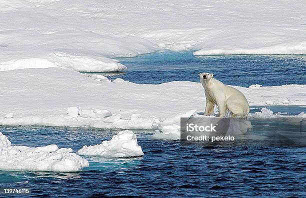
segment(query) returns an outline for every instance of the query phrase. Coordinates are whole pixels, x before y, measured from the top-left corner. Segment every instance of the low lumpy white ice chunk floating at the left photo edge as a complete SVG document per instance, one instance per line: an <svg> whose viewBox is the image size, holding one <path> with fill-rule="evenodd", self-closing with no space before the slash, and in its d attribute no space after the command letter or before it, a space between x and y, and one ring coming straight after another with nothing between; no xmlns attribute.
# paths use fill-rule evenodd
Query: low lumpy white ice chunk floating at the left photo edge
<svg viewBox="0 0 306 198"><path fill-rule="evenodd" d="M51 144L41 147L12 146L0 132L0 170L34 170L71 172L89 165L88 161L72 153L71 148Z"/></svg>

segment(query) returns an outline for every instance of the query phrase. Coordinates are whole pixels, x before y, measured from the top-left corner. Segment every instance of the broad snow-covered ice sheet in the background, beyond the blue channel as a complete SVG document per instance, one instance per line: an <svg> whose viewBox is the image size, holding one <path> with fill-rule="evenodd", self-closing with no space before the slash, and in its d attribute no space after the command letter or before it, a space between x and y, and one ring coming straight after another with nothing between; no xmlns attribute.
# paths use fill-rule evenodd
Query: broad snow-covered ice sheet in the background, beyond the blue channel
<svg viewBox="0 0 306 198"><path fill-rule="evenodd" d="M303 0L1 0L0 18L0 70L121 70L113 57L164 49L306 54Z"/></svg>

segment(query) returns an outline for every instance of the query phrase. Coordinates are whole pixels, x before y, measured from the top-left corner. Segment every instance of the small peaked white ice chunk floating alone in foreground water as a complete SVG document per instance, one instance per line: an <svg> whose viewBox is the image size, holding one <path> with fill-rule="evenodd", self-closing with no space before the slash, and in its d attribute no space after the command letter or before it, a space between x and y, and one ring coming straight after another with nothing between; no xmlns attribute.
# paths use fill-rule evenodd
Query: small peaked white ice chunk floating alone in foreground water
<svg viewBox="0 0 306 198"><path fill-rule="evenodd" d="M122 130L110 140L97 145L84 145L77 154L103 157L142 156L143 152L137 143L136 135L131 130Z"/></svg>

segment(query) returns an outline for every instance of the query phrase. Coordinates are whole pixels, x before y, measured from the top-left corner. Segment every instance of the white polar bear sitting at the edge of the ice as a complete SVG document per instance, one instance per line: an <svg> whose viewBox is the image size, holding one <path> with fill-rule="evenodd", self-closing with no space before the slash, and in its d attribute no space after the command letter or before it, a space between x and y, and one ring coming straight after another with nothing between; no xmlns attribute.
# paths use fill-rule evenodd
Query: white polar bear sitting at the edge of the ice
<svg viewBox="0 0 306 198"><path fill-rule="evenodd" d="M249 105L243 93L213 78L213 73L204 72L199 76L206 97L204 115L211 115L216 104L219 109L218 117L225 116L226 108L232 117L247 117Z"/></svg>

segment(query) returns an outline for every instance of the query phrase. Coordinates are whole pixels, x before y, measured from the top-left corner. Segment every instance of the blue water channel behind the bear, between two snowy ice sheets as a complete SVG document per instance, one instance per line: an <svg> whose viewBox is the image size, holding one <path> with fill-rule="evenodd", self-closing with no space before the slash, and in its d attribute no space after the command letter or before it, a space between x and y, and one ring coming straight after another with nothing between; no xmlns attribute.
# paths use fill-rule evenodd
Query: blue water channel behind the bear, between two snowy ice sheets
<svg viewBox="0 0 306 198"><path fill-rule="evenodd" d="M127 66L113 73L135 83L158 84L169 81L199 81L198 73L214 73L225 84L263 86L306 84L305 55L217 55L194 56L193 51L157 52L118 58Z"/></svg>

